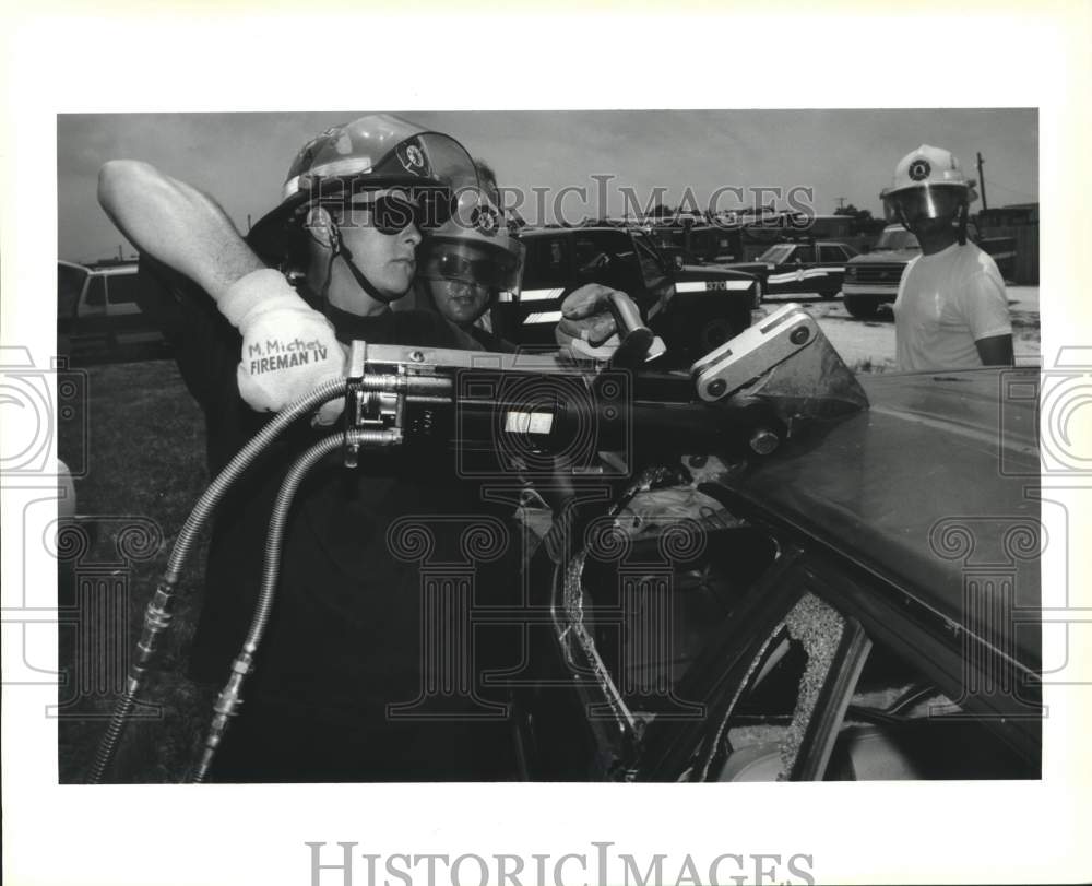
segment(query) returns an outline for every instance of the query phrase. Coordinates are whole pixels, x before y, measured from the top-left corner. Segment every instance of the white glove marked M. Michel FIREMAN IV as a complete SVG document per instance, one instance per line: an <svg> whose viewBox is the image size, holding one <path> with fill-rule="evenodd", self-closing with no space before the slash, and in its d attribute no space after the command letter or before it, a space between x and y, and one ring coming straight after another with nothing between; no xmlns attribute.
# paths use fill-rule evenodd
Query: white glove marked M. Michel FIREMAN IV
<svg viewBox="0 0 1092 886"><path fill-rule="evenodd" d="M278 412L323 381L345 375L346 353L333 324L311 308L272 269L247 274L221 297L217 307L242 333L239 394L259 412ZM344 400L319 411L317 423L332 424Z"/></svg>

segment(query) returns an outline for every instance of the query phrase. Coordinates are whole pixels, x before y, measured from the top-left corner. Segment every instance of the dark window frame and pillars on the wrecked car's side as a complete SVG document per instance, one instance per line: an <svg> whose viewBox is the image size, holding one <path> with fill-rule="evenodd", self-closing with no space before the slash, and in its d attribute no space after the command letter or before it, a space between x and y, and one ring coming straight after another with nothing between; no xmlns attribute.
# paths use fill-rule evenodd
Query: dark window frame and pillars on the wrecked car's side
<svg viewBox="0 0 1092 886"><path fill-rule="evenodd" d="M763 512L756 503L723 488L715 497L727 504L735 516L761 527L775 539L782 548L779 559L784 558L785 563L763 576L759 582L761 596L753 611L746 617L734 617L721 642L711 643L680 683L678 692L682 698L700 698L707 705L705 722L650 724L633 764L641 780L678 780L708 742L710 723L723 722L731 713L732 699L740 690L747 670L768 635L807 592L838 611L846 630L820 688L790 780L821 778L856 677L874 642L886 646L949 694L963 706L962 716L966 719L1013 725L998 732L998 736L1018 754L1042 759L1042 709L1033 709L1034 699L1023 706L1019 699L1009 699L998 707L988 697L963 695L968 677L977 678L980 673L969 675L970 663L986 661L987 669L1006 663L997 650L859 562L811 540L791 522ZM749 640L745 636L748 628L752 631ZM1026 669L1021 673L1025 678L1038 680Z"/></svg>

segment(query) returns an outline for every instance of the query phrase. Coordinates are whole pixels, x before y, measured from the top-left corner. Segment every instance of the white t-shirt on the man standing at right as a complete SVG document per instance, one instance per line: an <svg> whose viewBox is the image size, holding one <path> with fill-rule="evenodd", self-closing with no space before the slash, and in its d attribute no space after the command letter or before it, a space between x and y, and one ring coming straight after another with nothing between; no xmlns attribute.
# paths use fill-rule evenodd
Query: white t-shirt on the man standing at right
<svg viewBox="0 0 1092 886"><path fill-rule="evenodd" d="M903 371L982 366L974 343L1012 333L994 260L972 243L913 259L899 281L894 332Z"/></svg>

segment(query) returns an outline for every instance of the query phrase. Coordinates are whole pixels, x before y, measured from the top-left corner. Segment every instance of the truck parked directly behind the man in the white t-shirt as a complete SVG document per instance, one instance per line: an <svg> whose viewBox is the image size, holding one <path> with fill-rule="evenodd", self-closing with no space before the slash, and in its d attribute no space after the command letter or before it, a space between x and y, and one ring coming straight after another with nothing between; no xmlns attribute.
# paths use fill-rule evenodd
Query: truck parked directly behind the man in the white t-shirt
<svg viewBox="0 0 1092 886"><path fill-rule="evenodd" d="M977 244L997 262L1001 276L1008 277L1016 260L1013 237L982 238L975 223L968 222L968 239ZM845 265L842 284L845 309L854 317L875 317L881 305L894 303L899 281L906 264L921 255L917 237L902 225L888 225L870 252L856 256Z"/></svg>

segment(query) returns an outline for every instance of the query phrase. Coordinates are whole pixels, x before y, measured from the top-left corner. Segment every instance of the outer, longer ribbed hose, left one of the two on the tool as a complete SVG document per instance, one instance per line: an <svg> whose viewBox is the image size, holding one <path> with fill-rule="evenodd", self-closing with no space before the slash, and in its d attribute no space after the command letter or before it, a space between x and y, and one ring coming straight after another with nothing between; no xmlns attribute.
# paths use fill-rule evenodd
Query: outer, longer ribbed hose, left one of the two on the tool
<svg viewBox="0 0 1092 886"><path fill-rule="evenodd" d="M251 462L285 428L301 415L312 412L328 400L333 400L339 394L344 394L344 392L345 379L332 379L319 386L309 394L285 406L239 450L235 458L228 462L227 466L213 480L209 488L198 499L197 505L193 506L193 510L190 511L190 516L179 531L178 539L171 548L166 571L159 580L152 602L149 603L147 610L144 613L144 626L141 630L141 638L136 643L136 658L129 669L126 688L115 705L106 732L98 744L98 752L95 755L95 761L87 777L90 784L99 784L106 775L106 770L114 761L121 735L129 722L129 717L132 714L133 708L136 706L136 699L143 687L144 678L156 654L158 639L170 626L174 614L174 595L182 566L209 516L244 471L250 466Z"/></svg>

